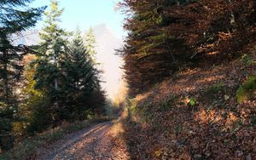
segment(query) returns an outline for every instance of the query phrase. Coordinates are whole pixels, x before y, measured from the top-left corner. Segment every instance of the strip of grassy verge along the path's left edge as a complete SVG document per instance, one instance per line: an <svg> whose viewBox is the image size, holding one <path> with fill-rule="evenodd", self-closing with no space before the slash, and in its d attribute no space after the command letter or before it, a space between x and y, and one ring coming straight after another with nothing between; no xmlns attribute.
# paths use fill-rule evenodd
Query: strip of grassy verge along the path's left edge
<svg viewBox="0 0 256 160"><path fill-rule="evenodd" d="M42 134L37 134L34 137L29 137L26 140L21 141L20 144L17 144L13 149L3 152L3 154L0 155L0 159L28 159L40 146L60 140L65 134L70 134L80 129L88 128L94 123L100 123L106 120L108 120L108 118L99 117L90 121L63 123L60 127L49 129Z"/></svg>

